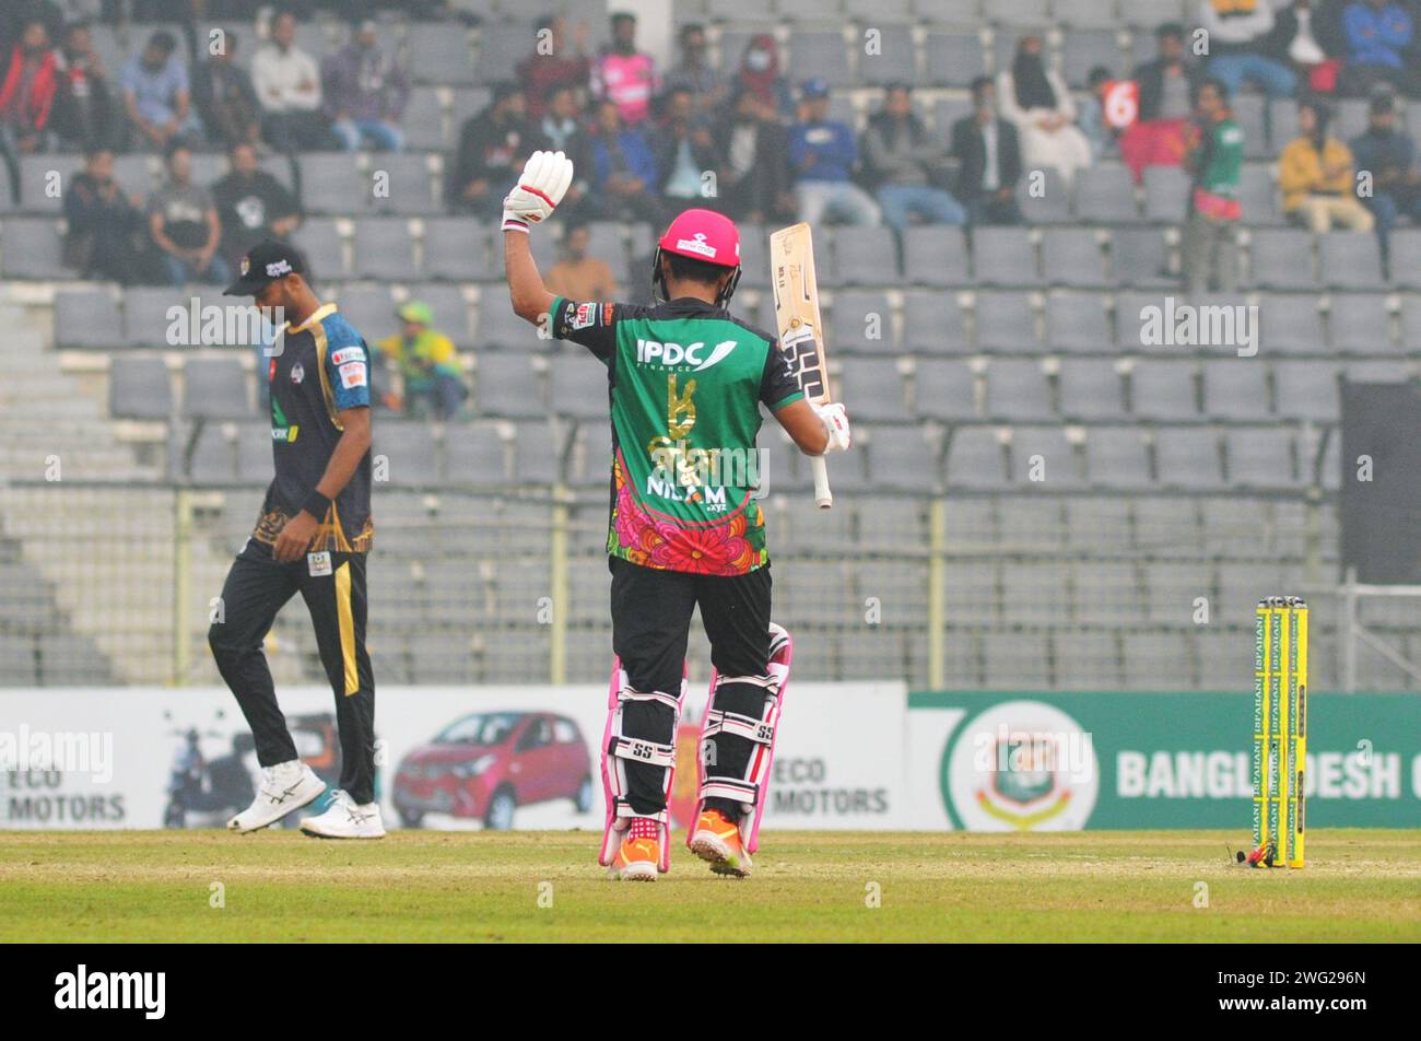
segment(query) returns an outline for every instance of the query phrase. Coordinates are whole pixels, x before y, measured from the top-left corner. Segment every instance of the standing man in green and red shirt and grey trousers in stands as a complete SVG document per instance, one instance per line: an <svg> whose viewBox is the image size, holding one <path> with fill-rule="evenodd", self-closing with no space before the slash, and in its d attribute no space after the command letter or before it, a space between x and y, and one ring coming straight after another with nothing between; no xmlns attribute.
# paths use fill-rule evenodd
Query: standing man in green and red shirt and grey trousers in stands
<svg viewBox="0 0 1421 1041"><path fill-rule="evenodd" d="M1243 215L1243 128L1229 108L1229 88L1209 77L1199 87L1185 166L1191 174L1189 220L1184 229L1184 279L1191 294L1238 289L1238 226Z"/></svg>

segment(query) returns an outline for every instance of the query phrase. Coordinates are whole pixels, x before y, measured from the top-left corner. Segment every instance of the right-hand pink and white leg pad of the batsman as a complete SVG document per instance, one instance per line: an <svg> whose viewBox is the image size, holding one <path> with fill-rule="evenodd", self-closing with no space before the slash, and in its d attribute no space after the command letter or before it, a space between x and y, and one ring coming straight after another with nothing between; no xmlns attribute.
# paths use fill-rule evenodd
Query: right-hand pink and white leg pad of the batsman
<svg viewBox="0 0 1421 1041"><path fill-rule="evenodd" d="M760 848L760 818L770 791L770 765L774 759L774 738L779 734L780 705L790 683L790 664L794 660L794 640L783 626L770 623L770 666L764 677L737 677L757 681L764 687L764 708L759 720L733 718L715 707L719 674L710 671L710 698L701 721L701 740L696 745L696 818L705 809L708 798L739 799L740 802L740 845L745 852L755 853ZM743 778L708 778L705 764L706 741L722 730L755 741L755 751ZM686 845L695 836L695 825L686 829Z"/></svg>

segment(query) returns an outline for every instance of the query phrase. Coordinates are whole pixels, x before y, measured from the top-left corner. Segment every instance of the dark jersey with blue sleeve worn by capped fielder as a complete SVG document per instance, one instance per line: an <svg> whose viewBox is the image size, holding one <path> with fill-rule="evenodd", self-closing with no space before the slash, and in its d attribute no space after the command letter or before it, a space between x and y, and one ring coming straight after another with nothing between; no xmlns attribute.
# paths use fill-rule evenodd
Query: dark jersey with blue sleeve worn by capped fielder
<svg viewBox="0 0 1421 1041"><path fill-rule="evenodd" d="M323 304L300 326L279 330L267 360L271 390L271 458L276 478L267 488L257 542L274 543L281 526L315 491L340 441L338 414L369 408L369 350L360 333ZM369 452L331 501L310 550L364 553L374 539L369 513Z"/></svg>

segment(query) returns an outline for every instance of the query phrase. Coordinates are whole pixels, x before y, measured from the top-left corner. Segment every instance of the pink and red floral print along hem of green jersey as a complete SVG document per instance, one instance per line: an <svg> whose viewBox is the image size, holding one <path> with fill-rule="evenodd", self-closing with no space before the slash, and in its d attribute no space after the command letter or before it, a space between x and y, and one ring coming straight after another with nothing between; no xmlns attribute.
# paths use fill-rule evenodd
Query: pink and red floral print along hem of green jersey
<svg viewBox="0 0 1421 1041"><path fill-rule="evenodd" d="M610 555L644 567L692 575L745 575L769 563L759 502L752 499L722 523L682 528L668 518L652 516L637 502L620 455L612 459L612 478L617 499L607 528Z"/></svg>

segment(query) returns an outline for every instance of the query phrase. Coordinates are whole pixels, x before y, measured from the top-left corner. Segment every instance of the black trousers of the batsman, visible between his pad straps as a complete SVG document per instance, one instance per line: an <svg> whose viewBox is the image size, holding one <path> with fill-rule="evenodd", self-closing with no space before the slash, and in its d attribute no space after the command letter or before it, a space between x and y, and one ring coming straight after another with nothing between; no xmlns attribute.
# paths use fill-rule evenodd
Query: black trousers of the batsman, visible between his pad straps
<svg viewBox="0 0 1421 1041"><path fill-rule="evenodd" d="M642 567L611 557L612 650L627 670L632 690L681 693L691 613L701 606L701 621L710 640L710 664L720 676L764 676L770 664L770 569L747 575L689 575ZM760 717L764 690L749 683L725 683L716 708ZM659 701L628 701L622 708L625 737L675 744L675 714ZM716 738L709 776L745 776L755 742L736 734ZM699 751L698 751L699 754ZM641 815L666 808L659 767L627 761L627 801ZM740 818L740 804L708 799L730 821Z"/></svg>

